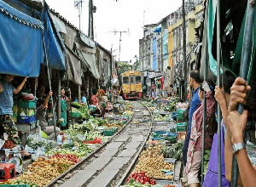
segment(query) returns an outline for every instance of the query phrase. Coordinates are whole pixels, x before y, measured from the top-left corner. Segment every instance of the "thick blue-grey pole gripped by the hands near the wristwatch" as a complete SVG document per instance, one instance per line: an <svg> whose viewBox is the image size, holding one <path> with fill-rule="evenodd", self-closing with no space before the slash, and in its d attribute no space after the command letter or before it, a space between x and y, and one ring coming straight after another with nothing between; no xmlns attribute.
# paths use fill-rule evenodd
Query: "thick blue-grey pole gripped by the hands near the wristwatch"
<svg viewBox="0 0 256 187"><path fill-rule="evenodd" d="M247 18L244 29L243 44L241 50L241 66L240 66L240 77L247 79L248 63L250 61L250 50L252 48L252 37L253 37L253 22L254 22L255 3L252 0L248 0L247 3ZM243 112L243 105L238 105L237 111L241 114ZM231 174L231 187L237 186L239 168L236 160L236 155L233 155L232 160L232 174Z"/></svg>

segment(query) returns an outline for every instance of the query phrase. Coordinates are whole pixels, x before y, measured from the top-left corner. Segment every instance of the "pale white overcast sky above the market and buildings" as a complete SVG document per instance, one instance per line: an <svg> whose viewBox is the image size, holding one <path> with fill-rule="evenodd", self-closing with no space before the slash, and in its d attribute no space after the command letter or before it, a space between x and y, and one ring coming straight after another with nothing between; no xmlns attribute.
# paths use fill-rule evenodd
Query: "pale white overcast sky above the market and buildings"
<svg viewBox="0 0 256 187"><path fill-rule="evenodd" d="M79 28L79 10L74 8L74 0L46 0L50 8L55 9L74 26ZM143 37L145 25L158 23L166 15L182 6L182 0L93 0L96 6L94 14L95 40L104 48L113 48L113 54L119 59L119 34L122 33L121 61L134 61L139 54L139 39ZM144 18L144 19L143 19ZM84 0L81 15L81 30L88 34L88 0Z"/></svg>

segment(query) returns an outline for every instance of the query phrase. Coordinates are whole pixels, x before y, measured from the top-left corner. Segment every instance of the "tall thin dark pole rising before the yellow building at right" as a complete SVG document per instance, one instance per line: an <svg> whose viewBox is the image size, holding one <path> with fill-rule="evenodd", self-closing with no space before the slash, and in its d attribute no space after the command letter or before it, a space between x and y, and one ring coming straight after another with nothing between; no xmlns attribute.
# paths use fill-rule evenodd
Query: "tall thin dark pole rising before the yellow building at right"
<svg viewBox="0 0 256 187"><path fill-rule="evenodd" d="M185 0L183 0L183 59L184 59L184 89L183 96L184 100L186 99L187 93L187 54L186 54L186 9L185 9Z"/></svg>

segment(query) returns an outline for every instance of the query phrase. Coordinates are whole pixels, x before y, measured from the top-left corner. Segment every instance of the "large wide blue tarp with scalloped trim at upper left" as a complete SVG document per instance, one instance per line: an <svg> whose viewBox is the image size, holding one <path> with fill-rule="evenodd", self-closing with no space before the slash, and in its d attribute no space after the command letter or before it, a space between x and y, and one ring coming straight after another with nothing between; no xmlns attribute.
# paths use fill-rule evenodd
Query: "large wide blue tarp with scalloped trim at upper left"
<svg viewBox="0 0 256 187"><path fill-rule="evenodd" d="M43 23L0 1L0 73L38 77L44 61Z"/></svg>

